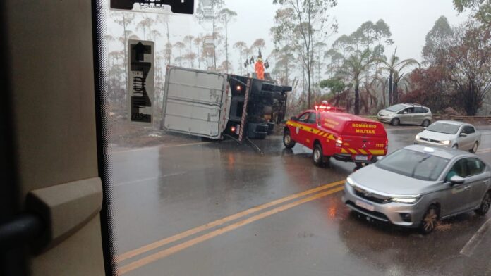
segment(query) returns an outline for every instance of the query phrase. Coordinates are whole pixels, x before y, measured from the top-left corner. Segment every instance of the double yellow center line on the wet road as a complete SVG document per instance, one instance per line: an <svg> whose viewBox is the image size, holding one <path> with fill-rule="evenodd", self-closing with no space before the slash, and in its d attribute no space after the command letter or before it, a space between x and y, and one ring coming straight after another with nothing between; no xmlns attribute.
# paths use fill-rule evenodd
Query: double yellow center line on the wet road
<svg viewBox="0 0 491 276"><path fill-rule="evenodd" d="M186 249L190 246L193 246L195 244L199 244L200 242L204 242L206 241L207 239L212 239L213 237L217 237L219 236L220 234L224 234L226 232L229 232L231 230L235 230L237 229L238 227L242 227L244 225L248 225L249 223L251 222L255 222L256 220L260 220L262 218L266 218L268 217L269 215L274 215L275 213L279 213L281 211L285 211L285 210L288 210L289 208L293 208L295 206L298 206L298 205L301 205L303 203L306 203L306 202L309 202L309 201L313 201L315 199L320 199L321 197L323 196L327 196L329 194L334 194L336 192L339 192L341 190L344 189L343 187L343 184L344 183L344 180L341 180L341 181L337 181L337 182L332 182L332 183L329 183L329 184L325 184L325 185L322 185L320 187L316 187L316 188L313 188L313 189L309 189L305 192L301 192L301 193L298 193L298 194L292 194L291 196L286 196L284 198L281 198L281 199L277 199L275 201L271 201L269 203L265 203L265 204L262 204L260 206L255 206L253 208L250 208L248 210L245 210L245 211L241 211L239 213L236 213L234 215L229 215L225 218L221 218L219 220L215 220L214 222L209 222L205 225L201 225L199 227L195 227L193 229L190 229L190 230L187 230L185 232L181 232L179 234L176 234L172 237L168 237L168 238L165 238L165 239L161 239L157 242L152 242L152 244L147 244L145 246L142 246L138 249L134 249L134 250L131 250L131 251L128 251L126 253L123 253L119 256L116 256L115 258L115 261L116 263L120 263L121 261L125 261L129 258L133 258L135 256L138 256L140 254L143 254L147 251L150 251L150 250L153 250L153 249L157 249L161 246L164 246L166 244L169 244L171 242L176 242L180 239L184 239L186 237L189 237L193 234L197 234L199 232L203 232L205 230L209 230L213 227L217 227L219 225L224 225L226 222L231 222L232 220L237 220L238 218L242 218L244 217L245 215L250 215L252 213L256 213L256 212L259 212L259 211L263 211L269 207L273 207L273 206L277 206L281 203L285 203L287 201L292 201L293 199L298 199L296 201L292 201L291 203L287 203L287 204L284 204L284 205L281 205L281 206L278 206L277 208L272 208L268 211L265 211L263 213L259 213L257 215L253 215L249 218L245 218L244 220L241 220L241 221L238 221L238 222L235 222L231 225L227 225L227 226L224 226L222 228L219 228L217 230L213 230L212 232L208 232L207 234L202 234L201 236L198 236L198 237L195 237L193 239L189 239L188 241L186 242L183 242L181 244L177 244L175 246L171 246L167 249L164 249L162 251L159 251L157 253L153 253L149 256L145 256L144 258L140 258L139 260L137 261L133 261L131 263L128 263L127 265L123 265L121 266L120 268L118 268L117 270L117 275L123 275L127 272L130 272L132 270L135 270L137 268L140 268L142 267L143 265L147 265L148 263L152 263L154 261L157 261L161 258L165 258L166 256L170 256L178 251L181 251L183 249ZM332 189L331 189L332 188ZM324 192L321 192L321 191L324 191ZM318 193L317 193L318 192ZM317 194L315 194L317 193ZM313 194L312 196L308 196L310 194ZM304 197L303 199L300 199L302 198L303 196L308 196L308 197Z"/></svg>

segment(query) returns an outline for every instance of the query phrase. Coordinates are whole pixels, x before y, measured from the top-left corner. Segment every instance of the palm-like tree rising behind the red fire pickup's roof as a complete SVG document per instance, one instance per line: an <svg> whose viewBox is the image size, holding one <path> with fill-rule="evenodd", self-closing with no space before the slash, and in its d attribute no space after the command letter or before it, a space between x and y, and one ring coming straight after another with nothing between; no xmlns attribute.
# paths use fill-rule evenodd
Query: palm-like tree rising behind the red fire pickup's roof
<svg viewBox="0 0 491 276"><path fill-rule="evenodd" d="M344 61L341 74L353 82L355 87L355 114L360 114L360 78L363 77L365 70L375 61L370 50L355 51Z"/></svg>

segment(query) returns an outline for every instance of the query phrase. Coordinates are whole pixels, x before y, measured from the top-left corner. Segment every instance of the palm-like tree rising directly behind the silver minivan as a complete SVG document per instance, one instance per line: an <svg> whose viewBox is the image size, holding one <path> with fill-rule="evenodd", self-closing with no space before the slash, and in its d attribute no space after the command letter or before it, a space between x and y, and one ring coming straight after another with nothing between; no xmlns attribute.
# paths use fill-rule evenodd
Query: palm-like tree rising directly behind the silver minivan
<svg viewBox="0 0 491 276"><path fill-rule="evenodd" d="M419 65L418 61L413 58L408 58L403 61L400 61L399 57L396 56L396 50L394 54L389 58L389 61L384 61L382 59L378 60L383 64L382 67L379 68L380 71L389 72L389 105L397 103L399 101L399 93L397 92L397 87L399 82L404 77L404 73L402 72L404 68L411 65Z"/></svg>

